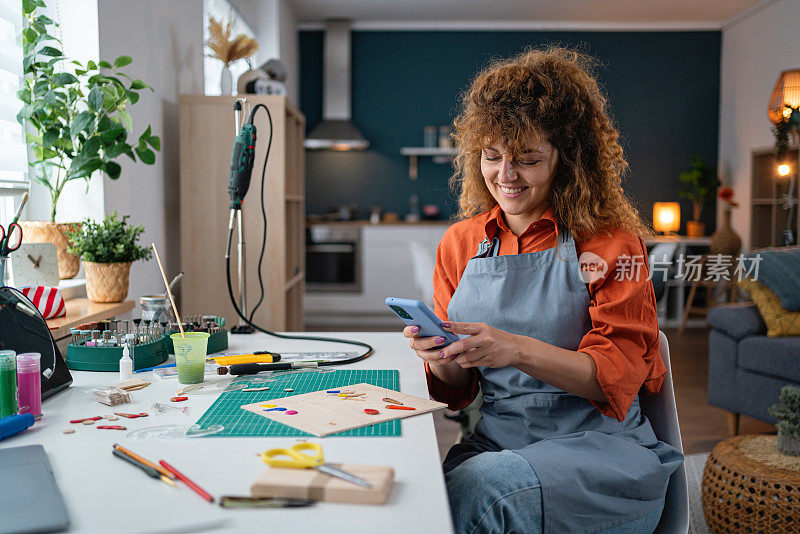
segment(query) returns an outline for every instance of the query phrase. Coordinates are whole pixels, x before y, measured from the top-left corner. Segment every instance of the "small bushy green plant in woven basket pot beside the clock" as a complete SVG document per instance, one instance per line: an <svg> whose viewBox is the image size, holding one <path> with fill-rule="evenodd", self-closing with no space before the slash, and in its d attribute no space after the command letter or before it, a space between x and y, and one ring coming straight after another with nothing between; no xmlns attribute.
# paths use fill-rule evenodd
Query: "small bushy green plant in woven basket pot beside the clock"
<svg viewBox="0 0 800 534"><path fill-rule="evenodd" d="M94 302L120 302L128 296L131 263L149 260L150 249L137 245L142 226L128 225L114 212L102 223L89 219L70 231L69 252L83 260L86 271L86 296Z"/></svg>

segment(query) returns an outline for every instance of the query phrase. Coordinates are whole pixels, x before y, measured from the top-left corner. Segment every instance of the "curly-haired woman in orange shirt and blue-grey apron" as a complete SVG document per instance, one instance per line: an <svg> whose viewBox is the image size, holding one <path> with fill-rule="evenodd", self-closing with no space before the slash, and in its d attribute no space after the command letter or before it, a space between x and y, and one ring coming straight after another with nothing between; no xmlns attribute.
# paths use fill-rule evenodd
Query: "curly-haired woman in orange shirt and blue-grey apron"
<svg viewBox="0 0 800 534"><path fill-rule="evenodd" d="M666 373L647 230L590 66L563 48L497 61L455 120L462 220L434 303L461 339L404 334L435 399L483 393L444 461L457 532L652 532L683 461L639 405Z"/></svg>

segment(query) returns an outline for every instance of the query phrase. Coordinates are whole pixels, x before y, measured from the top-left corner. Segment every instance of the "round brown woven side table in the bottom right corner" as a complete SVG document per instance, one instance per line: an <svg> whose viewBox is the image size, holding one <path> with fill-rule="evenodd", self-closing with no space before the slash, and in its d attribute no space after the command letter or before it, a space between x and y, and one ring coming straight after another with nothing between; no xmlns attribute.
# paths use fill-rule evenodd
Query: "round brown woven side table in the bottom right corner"
<svg viewBox="0 0 800 534"><path fill-rule="evenodd" d="M703 470L703 513L711 532L800 533L800 457L775 435L719 443Z"/></svg>

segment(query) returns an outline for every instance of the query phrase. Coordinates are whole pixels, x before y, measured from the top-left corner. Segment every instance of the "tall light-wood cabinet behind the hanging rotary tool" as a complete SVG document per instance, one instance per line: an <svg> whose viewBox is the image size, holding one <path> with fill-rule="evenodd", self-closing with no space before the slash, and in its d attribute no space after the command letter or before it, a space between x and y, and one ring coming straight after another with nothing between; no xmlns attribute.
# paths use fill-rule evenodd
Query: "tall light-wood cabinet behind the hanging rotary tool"
<svg viewBox="0 0 800 534"><path fill-rule="evenodd" d="M264 302L254 322L270 330L299 331L303 324L305 274L305 117L282 96L247 95L272 115L272 147L264 184L267 246L262 263ZM233 150L236 97L180 97L181 313L216 314L238 323L228 298L225 245L230 216L227 192ZM269 140L263 110L256 113L256 156L244 202L247 306L258 302L258 260L263 238L261 172ZM238 298L236 232L231 247L231 281Z"/></svg>

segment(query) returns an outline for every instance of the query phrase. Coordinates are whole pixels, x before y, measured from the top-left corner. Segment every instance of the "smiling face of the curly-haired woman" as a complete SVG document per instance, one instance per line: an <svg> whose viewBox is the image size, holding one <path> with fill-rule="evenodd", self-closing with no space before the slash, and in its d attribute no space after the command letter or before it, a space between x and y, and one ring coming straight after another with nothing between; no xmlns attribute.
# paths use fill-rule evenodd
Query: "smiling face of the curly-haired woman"
<svg viewBox="0 0 800 534"><path fill-rule="evenodd" d="M545 139L531 143L516 156L498 142L481 150L481 173L486 187L515 235L539 220L550 206L557 165L558 150Z"/></svg>

